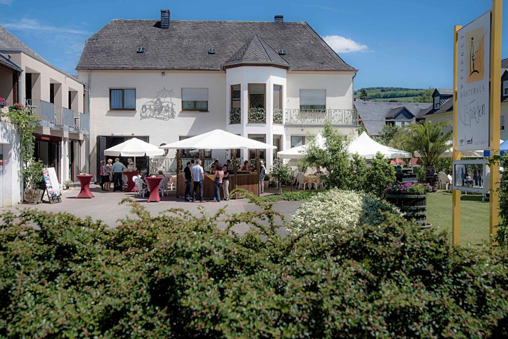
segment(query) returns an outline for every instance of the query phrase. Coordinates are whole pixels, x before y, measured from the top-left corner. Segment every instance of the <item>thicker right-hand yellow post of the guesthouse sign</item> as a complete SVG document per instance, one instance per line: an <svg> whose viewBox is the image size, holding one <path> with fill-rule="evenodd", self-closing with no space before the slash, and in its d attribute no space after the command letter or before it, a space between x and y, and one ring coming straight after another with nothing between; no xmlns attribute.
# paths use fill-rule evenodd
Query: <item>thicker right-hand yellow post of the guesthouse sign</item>
<svg viewBox="0 0 508 339"><path fill-rule="evenodd" d="M501 119L501 25L502 0L492 0L490 40L490 156L499 154ZM490 235L495 236L499 225L499 165L490 167Z"/></svg>

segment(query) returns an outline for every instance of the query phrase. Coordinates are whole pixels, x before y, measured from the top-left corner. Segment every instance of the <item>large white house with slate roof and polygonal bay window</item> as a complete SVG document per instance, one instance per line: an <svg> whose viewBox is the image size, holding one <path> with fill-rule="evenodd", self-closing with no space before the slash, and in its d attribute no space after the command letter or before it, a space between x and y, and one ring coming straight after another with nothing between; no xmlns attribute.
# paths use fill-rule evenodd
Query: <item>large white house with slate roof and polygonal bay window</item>
<svg viewBox="0 0 508 339"><path fill-rule="evenodd" d="M127 138L161 145L214 129L283 150L305 143L326 120L357 133L353 78L306 22L115 19L85 44L78 79L90 91L91 164ZM277 150L261 152L267 169ZM197 158L197 150L183 150ZM205 152L224 162L223 150ZM250 160L253 150L238 151ZM137 159L138 168L174 170L174 152ZM96 173L96 172L93 172Z"/></svg>

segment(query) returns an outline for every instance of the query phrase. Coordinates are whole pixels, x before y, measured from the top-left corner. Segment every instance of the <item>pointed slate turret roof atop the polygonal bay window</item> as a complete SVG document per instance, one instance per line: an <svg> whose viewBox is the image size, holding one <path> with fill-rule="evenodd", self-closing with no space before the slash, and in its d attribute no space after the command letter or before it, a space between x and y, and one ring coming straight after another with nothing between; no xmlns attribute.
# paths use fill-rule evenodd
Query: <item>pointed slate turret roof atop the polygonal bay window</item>
<svg viewBox="0 0 508 339"><path fill-rule="evenodd" d="M224 66L242 64L275 64L289 68L287 61L257 34L226 60Z"/></svg>

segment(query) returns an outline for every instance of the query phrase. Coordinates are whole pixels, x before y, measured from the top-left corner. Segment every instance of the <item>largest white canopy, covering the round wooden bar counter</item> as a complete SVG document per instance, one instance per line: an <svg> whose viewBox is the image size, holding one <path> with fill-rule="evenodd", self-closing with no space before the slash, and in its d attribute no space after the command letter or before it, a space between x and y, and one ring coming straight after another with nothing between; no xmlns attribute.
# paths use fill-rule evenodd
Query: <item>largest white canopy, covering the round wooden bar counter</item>
<svg viewBox="0 0 508 339"><path fill-rule="evenodd" d="M223 130L213 130L208 133L197 135L180 141L161 146L168 149L275 149L276 146L241 137Z"/></svg>

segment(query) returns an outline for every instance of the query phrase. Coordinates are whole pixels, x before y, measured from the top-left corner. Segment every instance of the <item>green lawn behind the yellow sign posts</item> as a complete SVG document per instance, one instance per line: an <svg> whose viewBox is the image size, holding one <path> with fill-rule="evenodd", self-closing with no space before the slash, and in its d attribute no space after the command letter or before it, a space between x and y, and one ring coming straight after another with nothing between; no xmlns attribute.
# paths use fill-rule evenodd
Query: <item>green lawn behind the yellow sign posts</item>
<svg viewBox="0 0 508 339"><path fill-rule="evenodd" d="M489 202L481 195L462 195L460 199L460 243L479 244L489 239ZM452 236L452 194L427 195L427 222L434 230L446 230Z"/></svg>

